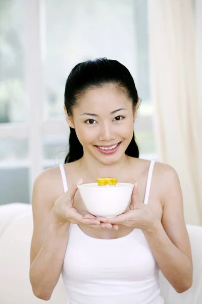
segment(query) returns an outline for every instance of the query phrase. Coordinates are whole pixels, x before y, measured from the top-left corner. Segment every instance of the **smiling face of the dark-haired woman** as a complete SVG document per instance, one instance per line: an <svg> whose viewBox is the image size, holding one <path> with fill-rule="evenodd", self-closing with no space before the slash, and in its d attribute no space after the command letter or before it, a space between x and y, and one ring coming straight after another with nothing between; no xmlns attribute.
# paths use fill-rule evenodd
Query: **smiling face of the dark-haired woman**
<svg viewBox="0 0 202 304"><path fill-rule="evenodd" d="M79 98L68 123L75 128L84 156L110 165L125 156L133 136L131 99L113 85L90 89Z"/></svg>

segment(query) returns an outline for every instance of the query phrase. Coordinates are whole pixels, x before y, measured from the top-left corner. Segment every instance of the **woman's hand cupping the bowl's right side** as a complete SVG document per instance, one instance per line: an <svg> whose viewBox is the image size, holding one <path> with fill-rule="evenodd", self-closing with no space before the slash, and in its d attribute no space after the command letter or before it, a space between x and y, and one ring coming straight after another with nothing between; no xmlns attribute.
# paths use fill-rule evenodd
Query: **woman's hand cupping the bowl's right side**
<svg viewBox="0 0 202 304"><path fill-rule="evenodd" d="M150 231L160 219L155 212L140 201L137 182L134 182L129 210L112 218L97 217L103 223L118 224L125 227L134 227L144 231Z"/></svg>

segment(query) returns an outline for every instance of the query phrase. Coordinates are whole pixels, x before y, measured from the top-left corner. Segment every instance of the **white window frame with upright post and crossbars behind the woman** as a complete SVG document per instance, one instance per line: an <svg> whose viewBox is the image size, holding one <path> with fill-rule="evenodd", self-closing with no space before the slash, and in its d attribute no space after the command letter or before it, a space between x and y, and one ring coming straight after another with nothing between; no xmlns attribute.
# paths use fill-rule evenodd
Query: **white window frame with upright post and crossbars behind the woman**
<svg viewBox="0 0 202 304"><path fill-rule="evenodd" d="M0 137L27 138L29 142L28 159L25 161L3 161L1 168L29 168L29 186L44 166L52 166L52 160L43 160L43 137L45 135L67 136L68 126L65 117L57 120L44 121L44 75L43 64L45 55L44 35L44 2L42 0L23 0L24 7L24 79L26 103L28 103L28 122L0 124ZM33 86L34 84L34 86ZM141 113L137 129L141 129L141 121L153 120L152 113ZM37 153L36 153L37 152ZM140 158L158 160L157 154L142 154ZM31 191L30 191L31 202Z"/></svg>

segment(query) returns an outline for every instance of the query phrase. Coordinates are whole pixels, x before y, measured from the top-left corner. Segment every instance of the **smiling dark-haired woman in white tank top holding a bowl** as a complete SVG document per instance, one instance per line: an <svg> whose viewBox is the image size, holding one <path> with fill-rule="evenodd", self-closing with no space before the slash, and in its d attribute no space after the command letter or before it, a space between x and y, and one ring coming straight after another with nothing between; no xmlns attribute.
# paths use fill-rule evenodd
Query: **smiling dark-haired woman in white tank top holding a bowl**
<svg viewBox="0 0 202 304"><path fill-rule="evenodd" d="M138 102L130 72L116 60L71 71L69 153L33 188L30 281L38 298L51 298L61 272L69 304L163 303L159 269L177 292L192 285L180 182L172 167L139 159ZM130 206L115 218L89 214L77 192L78 184L102 176L134 182Z"/></svg>

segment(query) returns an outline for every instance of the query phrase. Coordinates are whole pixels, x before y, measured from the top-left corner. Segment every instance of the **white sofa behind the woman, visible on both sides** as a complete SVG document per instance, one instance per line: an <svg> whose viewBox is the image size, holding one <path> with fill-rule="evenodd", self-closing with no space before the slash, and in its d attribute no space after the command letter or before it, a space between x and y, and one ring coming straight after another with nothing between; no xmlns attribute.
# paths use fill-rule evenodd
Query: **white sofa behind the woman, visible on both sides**
<svg viewBox="0 0 202 304"><path fill-rule="evenodd" d="M32 229L31 205L13 203L0 206L1 304L36 304L43 301L33 295L29 282ZM178 294L161 275L165 304L202 304L202 227L187 225L187 229L193 256L193 286ZM66 304L67 297L62 278L48 302Z"/></svg>

